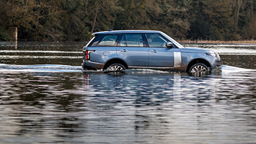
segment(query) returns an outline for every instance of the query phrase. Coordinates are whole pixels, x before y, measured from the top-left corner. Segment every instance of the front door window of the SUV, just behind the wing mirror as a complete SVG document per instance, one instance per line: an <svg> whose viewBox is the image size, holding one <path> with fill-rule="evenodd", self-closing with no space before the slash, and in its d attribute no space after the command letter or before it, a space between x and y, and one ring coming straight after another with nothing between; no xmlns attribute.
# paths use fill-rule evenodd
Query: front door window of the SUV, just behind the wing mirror
<svg viewBox="0 0 256 144"><path fill-rule="evenodd" d="M146 34L146 39L149 42L149 47L165 48L167 40L159 34Z"/></svg>

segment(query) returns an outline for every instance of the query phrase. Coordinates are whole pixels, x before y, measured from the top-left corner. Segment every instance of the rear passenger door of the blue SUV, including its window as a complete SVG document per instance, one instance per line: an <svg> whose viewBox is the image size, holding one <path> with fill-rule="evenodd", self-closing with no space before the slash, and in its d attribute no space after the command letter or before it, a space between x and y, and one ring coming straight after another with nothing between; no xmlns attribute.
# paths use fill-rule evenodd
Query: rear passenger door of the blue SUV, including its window
<svg viewBox="0 0 256 144"><path fill-rule="evenodd" d="M118 48L118 58L125 60L129 68L148 67L148 49L141 33L123 34Z"/></svg>

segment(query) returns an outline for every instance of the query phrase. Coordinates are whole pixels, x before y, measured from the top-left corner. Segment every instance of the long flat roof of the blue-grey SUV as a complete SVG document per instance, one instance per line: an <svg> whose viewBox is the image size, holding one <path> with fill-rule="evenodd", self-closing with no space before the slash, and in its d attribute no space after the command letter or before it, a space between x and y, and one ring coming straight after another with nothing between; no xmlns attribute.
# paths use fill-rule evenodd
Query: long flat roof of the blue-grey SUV
<svg viewBox="0 0 256 144"><path fill-rule="evenodd" d="M104 35L104 34L122 34L122 33L161 33L156 30L109 30L103 32L94 32L92 35Z"/></svg>

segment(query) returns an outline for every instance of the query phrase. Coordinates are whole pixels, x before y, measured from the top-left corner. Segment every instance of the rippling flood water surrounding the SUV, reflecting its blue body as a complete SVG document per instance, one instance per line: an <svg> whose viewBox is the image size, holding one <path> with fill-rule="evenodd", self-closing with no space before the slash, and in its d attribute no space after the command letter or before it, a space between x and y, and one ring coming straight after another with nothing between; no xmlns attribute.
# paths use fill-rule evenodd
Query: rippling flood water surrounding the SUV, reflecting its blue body
<svg viewBox="0 0 256 144"><path fill-rule="evenodd" d="M256 143L256 44L210 75L81 71L83 42L0 42L0 143Z"/></svg>

